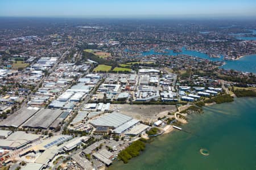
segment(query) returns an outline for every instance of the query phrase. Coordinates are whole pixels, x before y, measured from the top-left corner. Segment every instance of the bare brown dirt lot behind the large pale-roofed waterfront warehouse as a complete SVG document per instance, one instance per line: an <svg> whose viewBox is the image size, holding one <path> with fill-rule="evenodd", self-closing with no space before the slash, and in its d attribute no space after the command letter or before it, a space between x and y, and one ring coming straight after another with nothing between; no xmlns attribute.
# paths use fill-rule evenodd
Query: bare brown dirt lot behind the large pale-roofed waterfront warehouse
<svg viewBox="0 0 256 170"><path fill-rule="evenodd" d="M175 105L130 105L130 104L113 104L115 112L126 114L138 120L154 122L158 117L167 116L168 112L175 112Z"/></svg>

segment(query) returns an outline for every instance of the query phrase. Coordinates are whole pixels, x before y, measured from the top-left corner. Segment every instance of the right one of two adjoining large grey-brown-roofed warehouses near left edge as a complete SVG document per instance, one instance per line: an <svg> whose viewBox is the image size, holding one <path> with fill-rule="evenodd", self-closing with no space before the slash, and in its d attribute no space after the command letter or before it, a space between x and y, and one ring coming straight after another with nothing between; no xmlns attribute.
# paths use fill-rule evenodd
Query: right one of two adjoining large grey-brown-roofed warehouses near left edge
<svg viewBox="0 0 256 170"><path fill-rule="evenodd" d="M62 112L60 109L41 109L23 125L23 128L47 129Z"/></svg>

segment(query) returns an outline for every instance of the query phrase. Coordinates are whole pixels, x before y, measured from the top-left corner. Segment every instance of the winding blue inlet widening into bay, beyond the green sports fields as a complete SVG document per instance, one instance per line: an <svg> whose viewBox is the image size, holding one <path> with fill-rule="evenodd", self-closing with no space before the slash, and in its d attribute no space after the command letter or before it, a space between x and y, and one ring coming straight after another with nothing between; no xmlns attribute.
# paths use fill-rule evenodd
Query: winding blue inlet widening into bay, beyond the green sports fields
<svg viewBox="0 0 256 170"><path fill-rule="evenodd" d="M143 52L142 56L149 56L149 55L169 55L169 56L177 56L179 54L187 54L193 57L199 57L204 59L209 59L210 61L223 61L223 57L221 58L210 58L205 53L200 53L192 50L187 50L184 47L182 48L182 52L175 53L173 50L167 50L168 53L157 53L154 49L151 49L148 52ZM225 61L226 65L222 66L224 69L229 70L238 70L243 72L251 72L256 73L256 54L251 56L242 57L236 61Z"/></svg>

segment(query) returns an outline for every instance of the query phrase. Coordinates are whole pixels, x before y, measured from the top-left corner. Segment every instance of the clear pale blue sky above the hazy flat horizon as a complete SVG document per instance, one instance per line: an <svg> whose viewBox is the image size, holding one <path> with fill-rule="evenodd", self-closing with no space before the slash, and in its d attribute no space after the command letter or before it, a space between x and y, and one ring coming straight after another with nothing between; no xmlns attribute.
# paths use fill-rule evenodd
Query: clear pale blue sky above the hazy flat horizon
<svg viewBox="0 0 256 170"><path fill-rule="evenodd" d="M68 18L256 17L256 0L0 0L0 16Z"/></svg>

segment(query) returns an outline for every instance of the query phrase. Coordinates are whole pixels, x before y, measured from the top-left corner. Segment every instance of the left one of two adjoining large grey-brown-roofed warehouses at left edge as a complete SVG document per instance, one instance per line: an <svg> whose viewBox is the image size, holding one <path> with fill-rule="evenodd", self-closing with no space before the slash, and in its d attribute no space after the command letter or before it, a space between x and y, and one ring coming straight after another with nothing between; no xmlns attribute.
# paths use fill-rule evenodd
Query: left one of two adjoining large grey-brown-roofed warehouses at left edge
<svg viewBox="0 0 256 170"><path fill-rule="evenodd" d="M25 121L27 121L30 117L32 117L36 112L38 112L39 108L36 107L22 107L15 113L11 114L5 120L0 122L0 126L18 128Z"/></svg>

